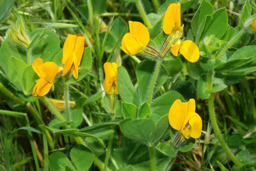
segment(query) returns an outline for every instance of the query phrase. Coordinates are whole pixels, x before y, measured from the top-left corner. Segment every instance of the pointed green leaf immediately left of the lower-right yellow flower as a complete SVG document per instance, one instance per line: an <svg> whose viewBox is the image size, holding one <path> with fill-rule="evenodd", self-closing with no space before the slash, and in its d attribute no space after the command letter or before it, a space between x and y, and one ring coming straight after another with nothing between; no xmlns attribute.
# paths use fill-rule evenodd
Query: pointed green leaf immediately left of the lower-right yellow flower
<svg viewBox="0 0 256 171"><path fill-rule="evenodd" d="M155 130L151 138L151 144L155 144L164 136L168 126L168 115L164 115L161 119L159 119L158 123L155 126Z"/></svg>

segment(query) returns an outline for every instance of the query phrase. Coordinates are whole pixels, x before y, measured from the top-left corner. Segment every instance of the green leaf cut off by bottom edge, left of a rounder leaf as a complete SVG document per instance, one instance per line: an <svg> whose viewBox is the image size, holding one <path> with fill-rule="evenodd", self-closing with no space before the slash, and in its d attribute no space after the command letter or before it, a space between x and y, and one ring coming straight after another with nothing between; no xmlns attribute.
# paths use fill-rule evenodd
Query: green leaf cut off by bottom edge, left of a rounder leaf
<svg viewBox="0 0 256 171"><path fill-rule="evenodd" d="M76 171L67 156L62 152L53 153L48 157L48 160L52 171Z"/></svg>

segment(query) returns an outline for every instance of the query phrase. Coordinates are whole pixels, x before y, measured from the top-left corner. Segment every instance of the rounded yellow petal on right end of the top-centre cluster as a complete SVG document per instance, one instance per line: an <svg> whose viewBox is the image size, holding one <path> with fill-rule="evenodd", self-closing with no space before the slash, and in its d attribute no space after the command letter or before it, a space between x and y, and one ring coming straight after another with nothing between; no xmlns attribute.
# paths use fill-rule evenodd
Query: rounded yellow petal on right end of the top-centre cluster
<svg viewBox="0 0 256 171"><path fill-rule="evenodd" d="M190 40L181 42L179 52L189 61L196 62L199 59L199 49L197 45Z"/></svg>

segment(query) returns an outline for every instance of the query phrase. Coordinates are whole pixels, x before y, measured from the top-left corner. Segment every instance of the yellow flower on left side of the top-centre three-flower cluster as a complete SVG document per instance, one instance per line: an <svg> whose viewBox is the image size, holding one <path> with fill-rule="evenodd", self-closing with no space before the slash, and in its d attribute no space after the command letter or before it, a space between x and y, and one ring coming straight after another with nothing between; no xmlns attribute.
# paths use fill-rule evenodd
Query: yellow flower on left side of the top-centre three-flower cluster
<svg viewBox="0 0 256 171"><path fill-rule="evenodd" d="M125 53L135 55L148 45L149 32L141 22L136 21L129 21L129 29L130 33L123 36L122 48Z"/></svg>

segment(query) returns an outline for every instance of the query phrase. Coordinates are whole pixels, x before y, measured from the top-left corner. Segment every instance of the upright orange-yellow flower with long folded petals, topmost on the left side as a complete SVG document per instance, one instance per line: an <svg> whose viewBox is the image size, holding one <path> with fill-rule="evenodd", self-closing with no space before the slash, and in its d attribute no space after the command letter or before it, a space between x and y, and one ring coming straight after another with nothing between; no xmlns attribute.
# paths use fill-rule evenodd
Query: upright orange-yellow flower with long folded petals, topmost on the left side
<svg viewBox="0 0 256 171"><path fill-rule="evenodd" d="M64 64L62 76L72 71L73 76L78 78L78 66L80 65L85 37L76 35L67 35L63 46L62 63Z"/></svg>

